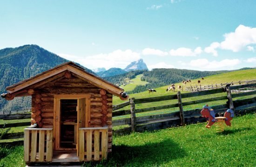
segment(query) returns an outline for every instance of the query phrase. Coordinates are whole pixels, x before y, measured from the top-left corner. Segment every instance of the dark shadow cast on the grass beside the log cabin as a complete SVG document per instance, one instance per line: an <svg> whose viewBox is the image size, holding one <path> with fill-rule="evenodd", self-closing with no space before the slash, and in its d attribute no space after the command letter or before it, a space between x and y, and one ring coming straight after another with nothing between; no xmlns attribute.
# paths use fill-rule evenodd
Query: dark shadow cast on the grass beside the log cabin
<svg viewBox="0 0 256 167"><path fill-rule="evenodd" d="M108 162L114 166L151 166L164 164L185 155L181 146L168 139L141 146L113 145Z"/></svg>

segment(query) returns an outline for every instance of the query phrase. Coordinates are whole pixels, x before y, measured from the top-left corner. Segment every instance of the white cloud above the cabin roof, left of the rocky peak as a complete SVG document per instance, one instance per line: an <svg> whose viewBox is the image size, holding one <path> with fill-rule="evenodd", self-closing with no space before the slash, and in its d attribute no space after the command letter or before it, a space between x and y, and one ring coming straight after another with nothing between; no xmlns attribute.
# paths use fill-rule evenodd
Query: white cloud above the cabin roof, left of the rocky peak
<svg viewBox="0 0 256 167"><path fill-rule="evenodd" d="M81 63L86 67L90 66L91 68L125 68L128 64L133 61L137 61L140 58L140 53L134 52L130 49L125 51L119 49L110 53L100 53L97 55L81 58L78 63Z"/></svg>

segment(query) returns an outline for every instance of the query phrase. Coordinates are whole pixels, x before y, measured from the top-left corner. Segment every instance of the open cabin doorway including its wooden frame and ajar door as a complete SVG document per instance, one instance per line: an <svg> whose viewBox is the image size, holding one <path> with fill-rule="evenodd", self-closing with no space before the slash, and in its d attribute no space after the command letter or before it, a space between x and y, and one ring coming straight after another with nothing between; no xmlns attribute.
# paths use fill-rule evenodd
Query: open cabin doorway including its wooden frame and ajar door
<svg viewBox="0 0 256 167"><path fill-rule="evenodd" d="M90 126L90 95L54 95L54 150L77 150L79 128Z"/></svg>

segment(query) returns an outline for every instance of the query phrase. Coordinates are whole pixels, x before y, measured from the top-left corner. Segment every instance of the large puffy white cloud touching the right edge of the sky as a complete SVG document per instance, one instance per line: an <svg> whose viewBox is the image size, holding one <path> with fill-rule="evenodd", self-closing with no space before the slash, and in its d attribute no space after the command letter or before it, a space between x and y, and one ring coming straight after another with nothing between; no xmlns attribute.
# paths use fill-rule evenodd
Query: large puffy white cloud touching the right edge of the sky
<svg viewBox="0 0 256 167"><path fill-rule="evenodd" d="M256 28L249 26L239 25L235 32L226 33L223 36L225 39L222 42L213 42L204 51L217 56L218 48L238 52L247 46L247 50L252 51L252 46L248 47L248 45L256 44Z"/></svg>

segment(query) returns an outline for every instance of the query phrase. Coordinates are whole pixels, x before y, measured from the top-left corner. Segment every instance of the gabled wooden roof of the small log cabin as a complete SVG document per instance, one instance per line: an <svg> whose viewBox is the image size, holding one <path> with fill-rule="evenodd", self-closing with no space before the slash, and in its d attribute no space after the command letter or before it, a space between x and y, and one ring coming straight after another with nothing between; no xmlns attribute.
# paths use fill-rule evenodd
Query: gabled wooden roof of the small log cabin
<svg viewBox="0 0 256 167"><path fill-rule="evenodd" d="M36 85L37 83L42 83L44 80L47 81L49 78L54 78L54 76L57 75L64 75L65 71L69 71L71 73L74 73L75 75L84 78L89 83L93 84L96 87L99 87L101 89L107 90L109 93L119 96L122 100L128 99L128 97L122 97L122 93L124 92L123 89L116 86L113 83L110 83L101 77L97 77L87 71L84 70L81 66L74 64L74 62L67 62L60 65L55 66L52 69L49 69L47 71L44 71L40 74L37 74L33 77L27 78L23 81L20 81L18 83L14 83L13 85L10 85L6 88L7 92L10 94L19 94L18 92L21 92L21 94L26 94L27 90L31 88L32 85ZM36 88L36 86L34 86ZM22 96L22 95L21 95Z"/></svg>

